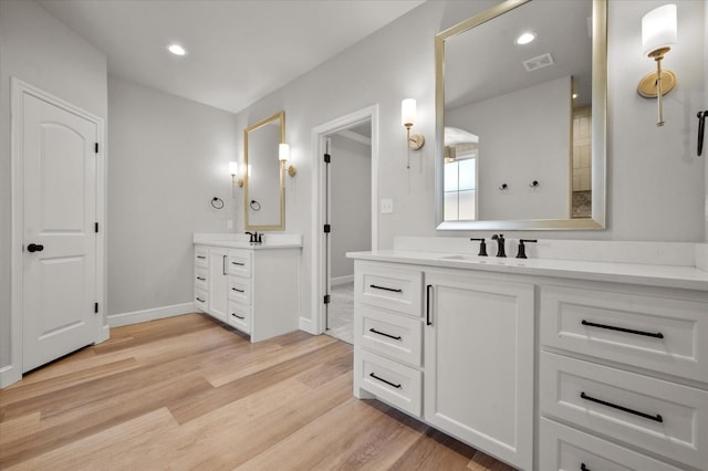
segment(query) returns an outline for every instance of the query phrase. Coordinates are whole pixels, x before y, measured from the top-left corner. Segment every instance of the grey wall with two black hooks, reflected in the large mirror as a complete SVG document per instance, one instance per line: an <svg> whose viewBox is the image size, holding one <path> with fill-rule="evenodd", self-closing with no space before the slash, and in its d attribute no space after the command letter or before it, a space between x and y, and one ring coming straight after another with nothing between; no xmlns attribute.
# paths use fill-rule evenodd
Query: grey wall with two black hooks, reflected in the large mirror
<svg viewBox="0 0 708 471"><path fill-rule="evenodd" d="M570 217L570 76L460 106L445 118L479 136L479 219ZM534 180L538 188L530 187Z"/></svg>

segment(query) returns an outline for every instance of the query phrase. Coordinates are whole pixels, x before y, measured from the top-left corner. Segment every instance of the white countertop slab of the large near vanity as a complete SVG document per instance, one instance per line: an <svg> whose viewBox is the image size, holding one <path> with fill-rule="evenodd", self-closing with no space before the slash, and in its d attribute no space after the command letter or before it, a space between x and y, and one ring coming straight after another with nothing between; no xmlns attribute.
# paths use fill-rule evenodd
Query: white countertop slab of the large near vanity
<svg viewBox="0 0 708 471"><path fill-rule="evenodd" d="M708 291L708 272L695 266L558 259L502 259L419 250L348 252L346 257L379 262ZM456 260L455 257L460 259Z"/></svg>

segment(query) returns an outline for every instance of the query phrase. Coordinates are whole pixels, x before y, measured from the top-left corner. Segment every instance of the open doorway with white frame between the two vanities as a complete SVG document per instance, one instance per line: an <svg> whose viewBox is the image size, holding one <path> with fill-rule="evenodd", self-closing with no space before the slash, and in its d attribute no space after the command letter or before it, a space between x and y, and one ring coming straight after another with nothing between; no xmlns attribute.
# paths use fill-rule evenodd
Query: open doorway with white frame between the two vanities
<svg viewBox="0 0 708 471"><path fill-rule="evenodd" d="M319 154L313 302L316 333L353 343L354 262L378 245L378 106L313 129Z"/></svg>

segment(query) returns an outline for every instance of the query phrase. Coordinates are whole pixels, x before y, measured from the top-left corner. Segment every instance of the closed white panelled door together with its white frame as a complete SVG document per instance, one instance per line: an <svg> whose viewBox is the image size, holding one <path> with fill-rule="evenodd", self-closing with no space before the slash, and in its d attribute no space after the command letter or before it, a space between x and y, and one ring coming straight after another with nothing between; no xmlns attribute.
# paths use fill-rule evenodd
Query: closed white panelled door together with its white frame
<svg viewBox="0 0 708 471"><path fill-rule="evenodd" d="M12 80L11 369L107 338L103 121Z"/></svg>

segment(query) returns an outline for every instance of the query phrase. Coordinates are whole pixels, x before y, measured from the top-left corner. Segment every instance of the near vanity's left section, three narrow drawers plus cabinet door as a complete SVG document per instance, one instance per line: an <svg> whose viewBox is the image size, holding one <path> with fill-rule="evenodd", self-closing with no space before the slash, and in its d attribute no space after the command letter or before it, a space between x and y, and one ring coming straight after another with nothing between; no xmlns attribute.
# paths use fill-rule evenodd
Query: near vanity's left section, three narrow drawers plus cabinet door
<svg viewBox="0 0 708 471"><path fill-rule="evenodd" d="M355 263L354 395L530 470L533 285Z"/></svg>

